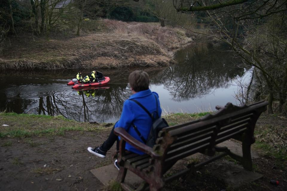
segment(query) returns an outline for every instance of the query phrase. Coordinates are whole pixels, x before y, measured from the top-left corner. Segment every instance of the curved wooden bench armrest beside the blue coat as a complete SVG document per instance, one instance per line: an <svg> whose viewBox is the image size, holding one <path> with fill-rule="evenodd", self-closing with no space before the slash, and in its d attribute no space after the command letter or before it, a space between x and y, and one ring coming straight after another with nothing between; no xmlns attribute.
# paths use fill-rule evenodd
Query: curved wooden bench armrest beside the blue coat
<svg viewBox="0 0 287 191"><path fill-rule="evenodd" d="M115 135L120 136L120 138L128 142L130 145L132 145L136 149L150 155L152 158L155 158L155 159L161 158L161 155L156 154L151 147L133 138L128 132L126 132L124 128L117 127L115 128L114 133Z"/></svg>

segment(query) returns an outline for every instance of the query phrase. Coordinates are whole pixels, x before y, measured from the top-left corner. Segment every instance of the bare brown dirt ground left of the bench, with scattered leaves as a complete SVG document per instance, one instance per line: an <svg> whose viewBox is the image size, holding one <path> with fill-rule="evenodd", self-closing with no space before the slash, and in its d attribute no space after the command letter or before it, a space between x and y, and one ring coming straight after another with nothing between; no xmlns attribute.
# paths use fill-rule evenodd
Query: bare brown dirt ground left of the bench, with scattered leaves
<svg viewBox="0 0 287 191"><path fill-rule="evenodd" d="M89 170L112 163L112 153L102 159L86 149L101 144L106 136L73 132L33 138L30 143L6 139L13 144L0 147L0 190L100 190L101 183Z"/></svg>

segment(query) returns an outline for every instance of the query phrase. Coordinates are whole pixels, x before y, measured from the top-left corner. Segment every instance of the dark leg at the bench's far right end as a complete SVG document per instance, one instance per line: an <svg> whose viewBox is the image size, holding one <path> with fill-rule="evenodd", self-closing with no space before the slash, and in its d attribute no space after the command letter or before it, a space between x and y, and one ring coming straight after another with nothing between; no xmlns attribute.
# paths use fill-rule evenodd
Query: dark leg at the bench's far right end
<svg viewBox="0 0 287 191"><path fill-rule="evenodd" d="M251 140L245 133L242 136L242 166L246 170L252 171Z"/></svg>

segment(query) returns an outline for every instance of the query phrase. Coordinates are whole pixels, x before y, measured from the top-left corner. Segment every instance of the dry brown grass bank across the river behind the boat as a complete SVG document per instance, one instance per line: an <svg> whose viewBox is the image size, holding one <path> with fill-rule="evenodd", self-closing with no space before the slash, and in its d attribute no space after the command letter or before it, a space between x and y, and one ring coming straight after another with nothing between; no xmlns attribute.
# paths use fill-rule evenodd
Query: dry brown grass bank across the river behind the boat
<svg viewBox="0 0 287 191"><path fill-rule="evenodd" d="M163 66L174 50L192 41L185 30L158 23L88 21L81 36L53 33L49 40L25 34L5 41L1 69L118 68ZM90 27L91 27L90 26Z"/></svg>

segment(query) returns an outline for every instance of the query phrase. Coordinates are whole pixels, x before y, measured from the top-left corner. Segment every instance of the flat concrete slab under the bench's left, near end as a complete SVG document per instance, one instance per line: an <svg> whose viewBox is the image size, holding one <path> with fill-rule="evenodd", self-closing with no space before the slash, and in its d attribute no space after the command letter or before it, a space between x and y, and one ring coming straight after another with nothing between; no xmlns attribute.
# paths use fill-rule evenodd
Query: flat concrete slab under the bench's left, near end
<svg viewBox="0 0 287 191"><path fill-rule="evenodd" d="M101 183L107 185L109 181L115 180L117 178L118 170L114 164L110 164L104 167L96 168L90 170L90 172L97 178ZM143 181L140 177L128 170L125 182L130 186L138 185Z"/></svg>

